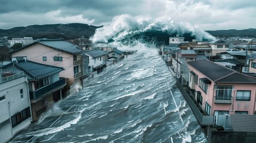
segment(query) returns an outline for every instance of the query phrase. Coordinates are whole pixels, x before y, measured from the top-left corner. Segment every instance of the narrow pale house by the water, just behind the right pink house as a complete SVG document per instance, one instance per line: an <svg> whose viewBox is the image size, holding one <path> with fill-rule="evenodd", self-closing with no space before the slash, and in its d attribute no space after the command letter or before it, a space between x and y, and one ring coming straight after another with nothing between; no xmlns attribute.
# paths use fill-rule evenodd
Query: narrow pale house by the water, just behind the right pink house
<svg viewBox="0 0 256 143"><path fill-rule="evenodd" d="M187 85L189 80L189 70L187 69L188 61L195 61L196 52L189 50L181 50L180 52L176 52L176 58L172 61L172 69L176 71L177 78L181 81L181 84Z"/></svg>

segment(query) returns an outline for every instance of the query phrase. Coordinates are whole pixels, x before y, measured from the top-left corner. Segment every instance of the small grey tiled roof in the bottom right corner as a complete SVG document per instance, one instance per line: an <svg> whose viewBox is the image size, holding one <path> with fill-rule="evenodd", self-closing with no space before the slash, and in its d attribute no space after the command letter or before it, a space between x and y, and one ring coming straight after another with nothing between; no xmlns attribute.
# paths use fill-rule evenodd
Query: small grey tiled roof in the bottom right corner
<svg viewBox="0 0 256 143"><path fill-rule="evenodd" d="M234 132L256 132L256 115L230 114Z"/></svg>

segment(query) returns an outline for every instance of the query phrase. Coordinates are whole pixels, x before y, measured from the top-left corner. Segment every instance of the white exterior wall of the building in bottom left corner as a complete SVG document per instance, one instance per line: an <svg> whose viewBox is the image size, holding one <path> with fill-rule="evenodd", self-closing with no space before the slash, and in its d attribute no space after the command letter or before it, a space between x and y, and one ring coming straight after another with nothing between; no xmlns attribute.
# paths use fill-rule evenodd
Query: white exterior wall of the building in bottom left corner
<svg viewBox="0 0 256 143"><path fill-rule="evenodd" d="M21 110L24 110L27 107L30 107L26 81L26 77L20 77L18 79L0 84L0 97L3 95L5 96L5 99L0 101L0 123L4 122L5 120L10 121L10 123L7 125L0 126L0 142L7 142L17 132L26 128L31 123L31 119L29 117L18 125L12 127L10 120L10 117L14 114L19 113ZM23 89L23 98L21 98L20 89ZM8 104L8 102L10 102L10 104Z"/></svg>

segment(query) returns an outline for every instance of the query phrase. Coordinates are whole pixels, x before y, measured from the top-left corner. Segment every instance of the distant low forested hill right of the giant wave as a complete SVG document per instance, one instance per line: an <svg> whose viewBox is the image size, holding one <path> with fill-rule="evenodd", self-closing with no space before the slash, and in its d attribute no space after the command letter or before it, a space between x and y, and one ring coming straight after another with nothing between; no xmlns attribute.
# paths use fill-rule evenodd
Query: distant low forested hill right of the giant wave
<svg viewBox="0 0 256 143"><path fill-rule="evenodd" d="M225 36L225 37L249 37L256 38L256 29L243 29L243 30L206 30L212 36Z"/></svg>

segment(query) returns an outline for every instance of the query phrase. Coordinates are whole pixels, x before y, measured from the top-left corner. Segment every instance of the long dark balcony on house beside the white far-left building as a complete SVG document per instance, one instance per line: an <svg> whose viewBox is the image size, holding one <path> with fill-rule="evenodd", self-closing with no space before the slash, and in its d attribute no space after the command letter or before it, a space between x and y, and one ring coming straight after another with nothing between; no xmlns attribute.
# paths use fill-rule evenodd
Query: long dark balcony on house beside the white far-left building
<svg viewBox="0 0 256 143"><path fill-rule="evenodd" d="M39 88L36 91L30 91L29 92L30 100L38 100L39 98L42 98L45 95L60 89L64 85L66 85L65 79L61 77L60 80L58 80L57 82L54 82L54 83L51 83L50 85Z"/></svg>

